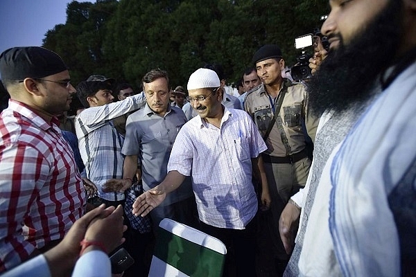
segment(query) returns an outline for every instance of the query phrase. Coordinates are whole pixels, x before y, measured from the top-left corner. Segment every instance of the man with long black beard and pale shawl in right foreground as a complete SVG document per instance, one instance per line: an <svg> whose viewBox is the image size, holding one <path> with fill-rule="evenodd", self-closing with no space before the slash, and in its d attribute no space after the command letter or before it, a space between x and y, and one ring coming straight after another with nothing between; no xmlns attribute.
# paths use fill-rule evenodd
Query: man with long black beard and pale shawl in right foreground
<svg viewBox="0 0 416 277"><path fill-rule="evenodd" d="M416 1L329 4L321 30L329 53L308 85L311 109L322 115L313 164L305 189L279 220L291 253L301 219L285 276L410 276L416 265Z"/></svg>

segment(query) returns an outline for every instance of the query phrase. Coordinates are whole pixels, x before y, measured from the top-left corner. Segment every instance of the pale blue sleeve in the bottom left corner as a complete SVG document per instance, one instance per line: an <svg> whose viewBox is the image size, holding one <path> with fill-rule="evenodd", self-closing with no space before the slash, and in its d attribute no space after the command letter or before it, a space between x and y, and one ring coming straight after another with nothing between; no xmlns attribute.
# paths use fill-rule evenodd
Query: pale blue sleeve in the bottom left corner
<svg viewBox="0 0 416 277"><path fill-rule="evenodd" d="M111 270L110 270L111 271ZM51 277L48 262L43 255L36 256L21 265L6 271L1 277Z"/></svg>

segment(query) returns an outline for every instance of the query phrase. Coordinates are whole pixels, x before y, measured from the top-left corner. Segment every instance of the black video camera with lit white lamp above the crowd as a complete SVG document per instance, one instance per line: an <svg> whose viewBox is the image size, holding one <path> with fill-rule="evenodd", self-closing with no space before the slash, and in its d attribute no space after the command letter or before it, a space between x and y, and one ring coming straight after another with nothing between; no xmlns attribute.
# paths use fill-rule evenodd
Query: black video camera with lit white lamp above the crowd
<svg viewBox="0 0 416 277"><path fill-rule="evenodd" d="M322 15L321 20L327 19L327 15ZM324 49L328 50L329 42L326 36L320 33L320 28L313 29L313 33L301 35L295 38L295 48L301 49L302 54L296 57L297 64L292 66L291 75L293 80L300 81L312 77L309 59L313 57L314 48L322 43Z"/></svg>

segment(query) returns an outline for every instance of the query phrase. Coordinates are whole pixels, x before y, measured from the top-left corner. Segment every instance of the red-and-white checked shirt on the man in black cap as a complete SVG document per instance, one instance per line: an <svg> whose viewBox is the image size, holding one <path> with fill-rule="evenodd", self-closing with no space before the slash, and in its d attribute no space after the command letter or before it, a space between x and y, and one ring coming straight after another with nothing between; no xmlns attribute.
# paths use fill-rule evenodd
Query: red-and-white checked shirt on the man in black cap
<svg viewBox="0 0 416 277"><path fill-rule="evenodd" d="M85 192L58 125L9 100L0 115L0 272L64 237Z"/></svg>

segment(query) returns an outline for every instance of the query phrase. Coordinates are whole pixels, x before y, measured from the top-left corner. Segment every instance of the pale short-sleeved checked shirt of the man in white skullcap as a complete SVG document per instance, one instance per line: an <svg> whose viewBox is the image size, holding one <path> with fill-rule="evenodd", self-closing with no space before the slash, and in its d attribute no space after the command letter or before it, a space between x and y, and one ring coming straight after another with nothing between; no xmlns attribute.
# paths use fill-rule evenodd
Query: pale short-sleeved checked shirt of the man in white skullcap
<svg viewBox="0 0 416 277"><path fill-rule="evenodd" d="M177 134L168 172L189 176L200 220L211 226L244 229L257 212L251 159L266 150L252 118L225 108L220 129L196 116Z"/></svg>

